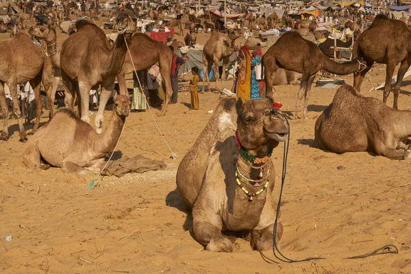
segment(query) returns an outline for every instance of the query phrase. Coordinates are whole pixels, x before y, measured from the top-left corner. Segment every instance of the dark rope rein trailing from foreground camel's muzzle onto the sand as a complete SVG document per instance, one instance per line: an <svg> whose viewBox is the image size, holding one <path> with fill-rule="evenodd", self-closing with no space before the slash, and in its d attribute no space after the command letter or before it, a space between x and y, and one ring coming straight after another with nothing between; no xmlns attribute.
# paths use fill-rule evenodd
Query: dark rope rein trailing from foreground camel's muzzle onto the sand
<svg viewBox="0 0 411 274"><path fill-rule="evenodd" d="M284 114L282 114L284 116ZM286 123L288 125L288 129L290 129L290 123L288 122L288 119L286 116L284 116L284 119L286 120ZM287 258L286 256L284 256L283 253L281 253L281 251L279 251L279 247L278 247L278 243L276 240L276 235L277 235L277 223L278 223L278 216L279 216L279 210L281 207L281 200L282 200L282 193L284 190L284 182L286 181L286 173L287 173L287 158L288 158L288 149L290 147L290 132L288 133L288 138L287 141L284 142L284 153L283 153L283 166L282 166L282 178L281 178L281 187L279 190L279 197L278 197L278 203L277 203L277 212L275 214L275 221L274 221L274 229L273 229L273 255L275 256L275 258L277 258L277 260L281 261L281 262L308 262L311 260L324 260L325 258L323 257L308 257L302 260L293 260L290 258ZM398 249L397 247L395 247L395 245L385 245L384 247L380 247L379 249L375 249L374 251L371 251L369 253L365 253L362 255L358 255L358 256L352 256L352 257L347 257L347 258L343 258L345 260L351 260L351 259L359 259L359 258L366 258L366 257L370 257L370 256L376 256L376 255L382 255L382 254L388 254L388 253L393 253L393 254L398 254ZM266 255L264 255L264 253L262 253L262 251L260 251L260 255L262 257L262 259L269 263L275 263L275 264L279 264L279 262L276 262L275 260L267 257Z"/></svg>

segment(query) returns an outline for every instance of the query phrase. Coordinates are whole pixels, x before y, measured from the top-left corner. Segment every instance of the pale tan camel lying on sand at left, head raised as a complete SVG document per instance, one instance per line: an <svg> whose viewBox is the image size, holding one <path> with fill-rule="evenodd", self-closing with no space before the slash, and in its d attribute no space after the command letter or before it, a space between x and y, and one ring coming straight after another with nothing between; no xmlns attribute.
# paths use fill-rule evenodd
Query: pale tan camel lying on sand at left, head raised
<svg viewBox="0 0 411 274"><path fill-rule="evenodd" d="M86 122L68 109L58 111L41 127L29 142L23 162L29 169L48 169L57 166L66 173L99 172L105 155L116 147L125 119L129 114L129 97L116 97L112 117L103 134L97 134ZM42 159L45 162L42 162Z"/></svg>

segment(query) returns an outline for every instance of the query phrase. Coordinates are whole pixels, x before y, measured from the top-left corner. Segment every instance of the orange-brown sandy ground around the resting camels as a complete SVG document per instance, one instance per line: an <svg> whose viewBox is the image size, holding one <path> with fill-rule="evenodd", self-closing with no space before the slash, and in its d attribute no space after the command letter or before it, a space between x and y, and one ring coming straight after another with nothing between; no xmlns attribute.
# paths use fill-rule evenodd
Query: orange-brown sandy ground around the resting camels
<svg viewBox="0 0 411 274"><path fill-rule="evenodd" d="M199 35L205 42L209 34ZM66 36L59 34L59 42ZM179 38L178 35L175 36ZM179 38L182 39L182 38ZM371 71L384 81L384 66ZM318 78L317 78L318 79ZM352 83L352 76L345 77ZM405 82L410 84L410 82ZM225 83L230 88L232 82ZM382 91L363 94L382 98ZM294 110L297 86L277 87L282 110ZM249 242L238 238L233 253L210 253L190 235L191 217L175 190L177 166L208 122L219 95L199 95L200 109L189 110L190 95L179 93L158 125L149 111L129 115L116 157L142 154L164 160L164 171L104 177L88 190L95 174L74 175L60 169L26 169L25 144L12 121L7 142L0 142L1 273L411 273L410 160L388 160L370 153L337 155L312 147L315 119L336 89L313 88L308 120L290 121L288 175L282 221L284 255L326 260L267 264ZM411 88L401 88L399 108L410 110ZM392 105L392 95L388 105ZM109 106L110 108L110 106ZM110 116L106 112L106 119ZM47 121L48 112L42 115ZM91 124L94 125L94 116ZM105 123L107 125L107 123ZM30 128L30 126L27 126ZM14 134L13 134L14 132ZM282 147L273 160L282 167ZM279 190L279 173L275 189ZM11 236L12 240L5 238ZM384 245L399 254L343 260ZM266 256L273 258L271 251Z"/></svg>

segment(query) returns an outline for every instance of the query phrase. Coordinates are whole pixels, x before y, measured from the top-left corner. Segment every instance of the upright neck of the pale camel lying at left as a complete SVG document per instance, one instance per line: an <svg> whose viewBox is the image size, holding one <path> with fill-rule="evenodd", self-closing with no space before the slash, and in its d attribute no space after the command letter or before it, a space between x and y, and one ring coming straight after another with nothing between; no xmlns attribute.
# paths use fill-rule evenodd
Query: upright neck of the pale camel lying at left
<svg viewBox="0 0 411 274"><path fill-rule="evenodd" d="M120 138L124 123L125 117L118 116L116 110L113 110L107 129L95 139L96 150L104 154L111 153Z"/></svg>

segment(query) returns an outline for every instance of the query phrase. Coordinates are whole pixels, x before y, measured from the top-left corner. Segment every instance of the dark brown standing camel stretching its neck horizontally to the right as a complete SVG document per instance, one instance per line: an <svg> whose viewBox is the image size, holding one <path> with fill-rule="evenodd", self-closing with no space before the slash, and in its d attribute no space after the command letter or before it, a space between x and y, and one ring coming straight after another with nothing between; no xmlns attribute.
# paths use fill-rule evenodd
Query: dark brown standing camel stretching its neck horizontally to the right
<svg viewBox="0 0 411 274"><path fill-rule="evenodd" d="M344 64L333 62L313 42L303 39L296 32L283 34L262 57L264 65L263 98L272 96L273 73L277 68L301 73L301 84L295 103L294 118L297 118L299 102L304 96L303 117L308 119L307 105L310 98L311 85L315 75L321 69L338 75L347 75L364 69L364 64L359 60L352 60Z"/></svg>

